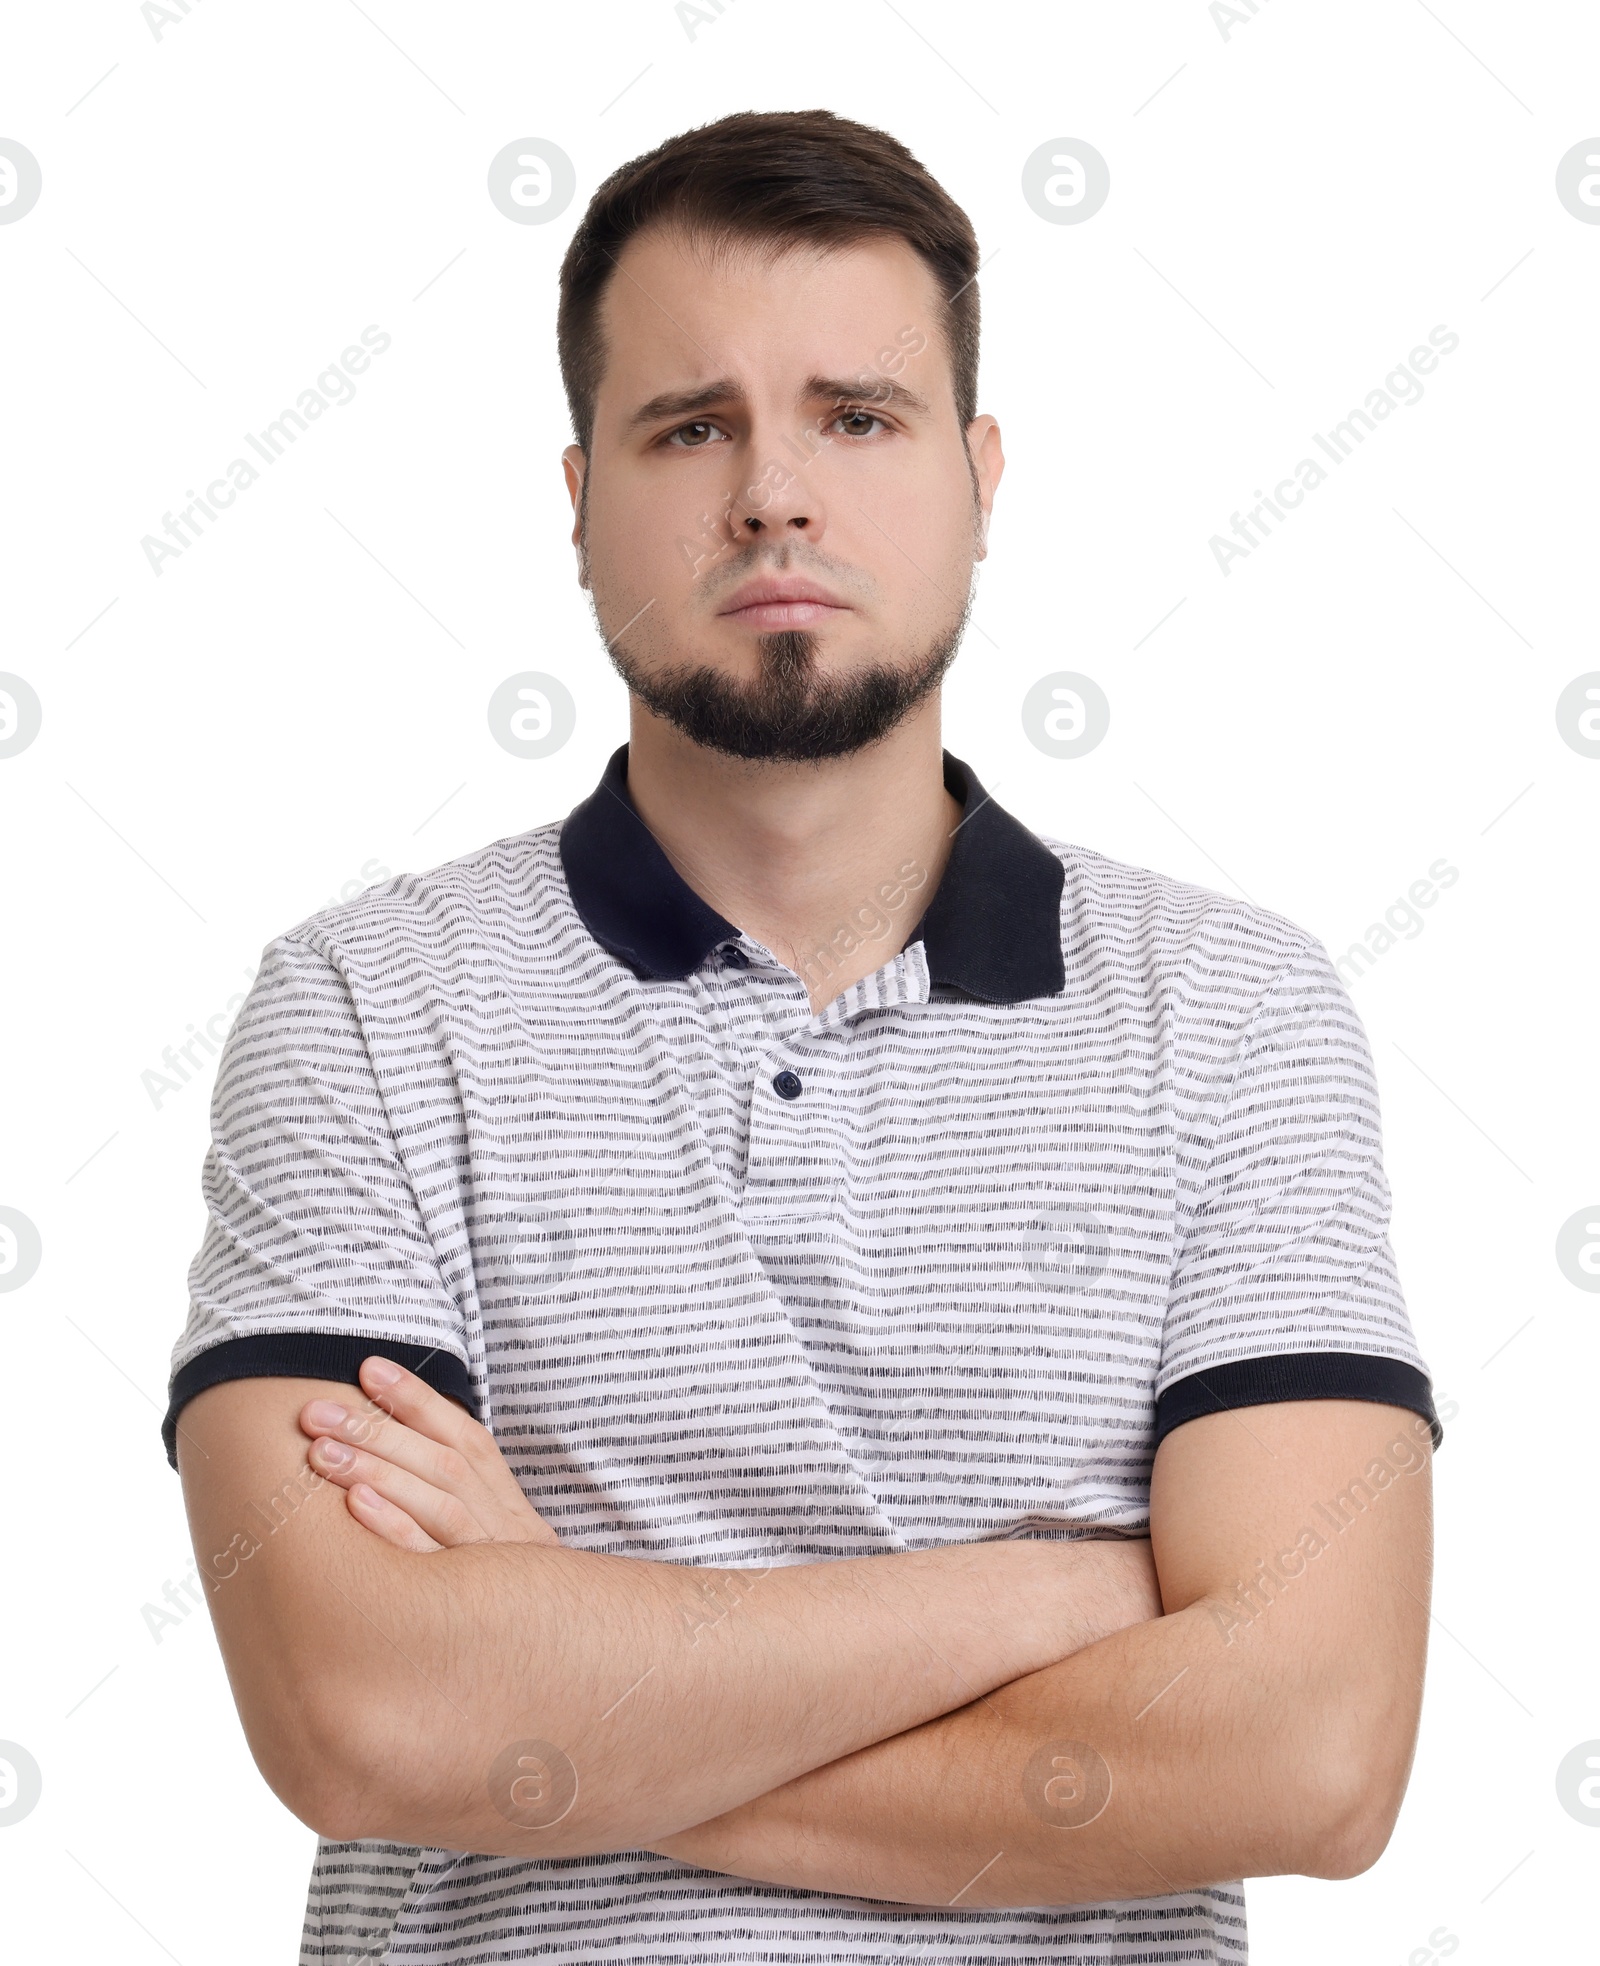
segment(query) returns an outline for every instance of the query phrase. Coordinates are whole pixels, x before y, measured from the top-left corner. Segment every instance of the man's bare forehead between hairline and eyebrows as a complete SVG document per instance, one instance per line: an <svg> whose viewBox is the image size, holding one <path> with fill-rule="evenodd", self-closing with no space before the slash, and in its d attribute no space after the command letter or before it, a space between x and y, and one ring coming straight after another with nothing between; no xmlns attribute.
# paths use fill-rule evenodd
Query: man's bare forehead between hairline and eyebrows
<svg viewBox="0 0 1600 1966"><path fill-rule="evenodd" d="M802 376L883 368L912 334L928 350L916 387L949 395L936 350L943 301L932 269L896 236L851 246L712 246L680 230L635 234L617 256L600 326L605 370L598 421L670 385L733 376L751 393L792 393ZM906 332L912 330L912 332ZM898 342L896 342L898 336Z"/></svg>

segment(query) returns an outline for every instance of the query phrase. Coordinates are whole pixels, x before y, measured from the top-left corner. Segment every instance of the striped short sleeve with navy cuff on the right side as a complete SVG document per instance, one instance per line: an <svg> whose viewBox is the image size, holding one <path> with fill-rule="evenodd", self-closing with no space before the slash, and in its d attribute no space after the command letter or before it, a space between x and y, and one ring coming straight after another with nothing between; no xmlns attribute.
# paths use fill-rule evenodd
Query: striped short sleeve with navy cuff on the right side
<svg viewBox="0 0 1600 1966"><path fill-rule="evenodd" d="M1274 1400L1405 1406L1441 1439L1390 1248L1378 1083L1319 942L1282 965L1195 1101L1158 1441Z"/></svg>

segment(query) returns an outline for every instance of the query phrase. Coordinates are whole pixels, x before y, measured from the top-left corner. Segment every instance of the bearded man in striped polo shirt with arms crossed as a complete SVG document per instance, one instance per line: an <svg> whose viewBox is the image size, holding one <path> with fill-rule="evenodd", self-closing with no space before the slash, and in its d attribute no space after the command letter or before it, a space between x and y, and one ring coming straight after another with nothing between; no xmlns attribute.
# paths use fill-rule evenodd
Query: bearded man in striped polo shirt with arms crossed
<svg viewBox="0 0 1600 1966"><path fill-rule="evenodd" d="M1236 1879L1388 1840L1437 1421L1366 1040L942 751L975 271L822 112L600 187L629 743L228 1038L165 1437L307 1960L1242 1960Z"/></svg>

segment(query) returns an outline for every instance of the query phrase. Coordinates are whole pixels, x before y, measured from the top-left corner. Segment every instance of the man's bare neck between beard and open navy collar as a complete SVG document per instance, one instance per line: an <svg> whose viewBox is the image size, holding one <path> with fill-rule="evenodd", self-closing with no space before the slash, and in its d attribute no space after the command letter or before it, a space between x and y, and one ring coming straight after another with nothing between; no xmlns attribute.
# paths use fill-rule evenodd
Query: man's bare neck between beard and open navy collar
<svg viewBox="0 0 1600 1966"><path fill-rule="evenodd" d="M881 743L808 765L723 757L637 700L627 790L682 879L822 1009L906 946L949 859L940 700Z"/></svg>

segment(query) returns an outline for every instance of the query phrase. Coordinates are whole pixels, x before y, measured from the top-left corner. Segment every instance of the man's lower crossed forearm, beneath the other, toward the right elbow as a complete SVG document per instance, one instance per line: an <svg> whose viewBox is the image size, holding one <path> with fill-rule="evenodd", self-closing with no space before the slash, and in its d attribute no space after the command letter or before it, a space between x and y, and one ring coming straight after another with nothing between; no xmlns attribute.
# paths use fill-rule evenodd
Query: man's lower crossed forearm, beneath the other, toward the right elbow
<svg viewBox="0 0 1600 1966"><path fill-rule="evenodd" d="M914 1905L1069 1905L1360 1868L1339 1701L1221 1648L1205 1606L653 1848L771 1883ZM1266 1667L1266 1669L1264 1669ZM1411 1714L1396 1712L1396 1736ZM1286 1752L1286 1734L1293 1752Z"/></svg>

